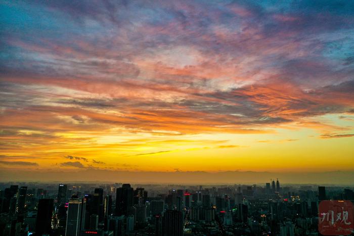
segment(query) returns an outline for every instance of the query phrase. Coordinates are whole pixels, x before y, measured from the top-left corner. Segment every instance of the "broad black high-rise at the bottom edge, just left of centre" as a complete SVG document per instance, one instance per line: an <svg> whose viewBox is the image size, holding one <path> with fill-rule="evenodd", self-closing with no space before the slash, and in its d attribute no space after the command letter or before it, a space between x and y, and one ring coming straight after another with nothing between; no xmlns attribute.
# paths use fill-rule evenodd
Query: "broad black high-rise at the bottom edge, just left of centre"
<svg viewBox="0 0 354 236"><path fill-rule="evenodd" d="M167 210L162 219L163 236L183 236L183 215L181 211Z"/></svg>

